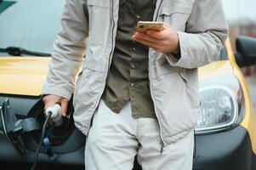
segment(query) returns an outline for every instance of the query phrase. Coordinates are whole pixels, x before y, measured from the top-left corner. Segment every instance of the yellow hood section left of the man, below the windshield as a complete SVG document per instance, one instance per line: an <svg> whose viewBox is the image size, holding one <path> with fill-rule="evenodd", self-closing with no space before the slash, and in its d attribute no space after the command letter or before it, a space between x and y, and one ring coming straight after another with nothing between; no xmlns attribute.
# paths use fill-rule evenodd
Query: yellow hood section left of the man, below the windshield
<svg viewBox="0 0 256 170"><path fill-rule="evenodd" d="M39 96L51 58L0 57L0 94Z"/></svg>

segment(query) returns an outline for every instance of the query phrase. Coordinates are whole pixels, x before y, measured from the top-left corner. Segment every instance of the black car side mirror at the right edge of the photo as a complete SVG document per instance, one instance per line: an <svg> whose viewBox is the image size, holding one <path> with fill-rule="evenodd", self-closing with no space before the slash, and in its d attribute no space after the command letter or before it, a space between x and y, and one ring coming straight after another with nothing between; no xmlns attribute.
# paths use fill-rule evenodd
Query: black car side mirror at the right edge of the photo
<svg viewBox="0 0 256 170"><path fill-rule="evenodd" d="M236 63L240 67L256 64L256 38L236 38Z"/></svg>

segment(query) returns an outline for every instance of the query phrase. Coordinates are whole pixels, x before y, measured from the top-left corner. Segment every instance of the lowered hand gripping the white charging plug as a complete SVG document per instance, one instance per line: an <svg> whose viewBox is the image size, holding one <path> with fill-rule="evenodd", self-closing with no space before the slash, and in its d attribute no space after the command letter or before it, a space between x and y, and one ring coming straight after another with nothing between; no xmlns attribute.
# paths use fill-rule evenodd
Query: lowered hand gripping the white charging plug
<svg viewBox="0 0 256 170"><path fill-rule="evenodd" d="M63 97L53 95L53 94L48 94L43 97L43 104L44 104L43 112L45 113L48 107L54 106L56 103L60 103L61 115L66 116L68 101L69 101L68 99L65 99Z"/></svg>

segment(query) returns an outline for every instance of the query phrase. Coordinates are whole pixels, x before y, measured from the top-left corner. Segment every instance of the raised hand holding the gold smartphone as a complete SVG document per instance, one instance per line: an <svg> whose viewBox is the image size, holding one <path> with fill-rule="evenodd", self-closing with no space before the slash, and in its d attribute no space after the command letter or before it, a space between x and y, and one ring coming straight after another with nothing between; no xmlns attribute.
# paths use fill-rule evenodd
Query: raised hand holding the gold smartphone
<svg viewBox="0 0 256 170"><path fill-rule="evenodd" d="M134 41L140 42L161 53L179 53L179 37L172 26L164 23L162 31L136 32Z"/></svg>

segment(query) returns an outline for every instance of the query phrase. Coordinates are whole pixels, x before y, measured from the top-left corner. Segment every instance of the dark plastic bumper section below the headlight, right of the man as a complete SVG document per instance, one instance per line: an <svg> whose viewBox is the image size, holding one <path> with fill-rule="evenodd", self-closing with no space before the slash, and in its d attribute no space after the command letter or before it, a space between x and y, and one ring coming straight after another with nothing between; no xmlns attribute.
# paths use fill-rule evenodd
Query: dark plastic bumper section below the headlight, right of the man
<svg viewBox="0 0 256 170"><path fill-rule="evenodd" d="M244 127L196 136L196 159L193 170L252 170L255 155Z"/></svg>

